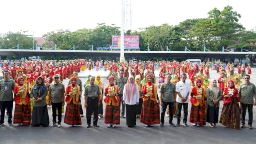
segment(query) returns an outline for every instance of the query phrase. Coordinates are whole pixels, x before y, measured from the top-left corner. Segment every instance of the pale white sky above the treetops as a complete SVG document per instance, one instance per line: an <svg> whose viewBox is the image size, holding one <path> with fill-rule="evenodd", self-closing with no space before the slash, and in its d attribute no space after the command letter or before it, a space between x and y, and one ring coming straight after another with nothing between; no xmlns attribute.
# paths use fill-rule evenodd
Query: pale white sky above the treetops
<svg viewBox="0 0 256 144"><path fill-rule="evenodd" d="M255 30L255 0L124 0L131 3L125 20L132 30L164 23L178 25L186 19L207 18L208 12L225 6L241 14L238 23ZM97 23L121 27L121 0L1 0L0 34L28 31L41 37L56 30L95 28ZM125 23L126 24L126 23Z"/></svg>

